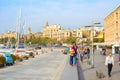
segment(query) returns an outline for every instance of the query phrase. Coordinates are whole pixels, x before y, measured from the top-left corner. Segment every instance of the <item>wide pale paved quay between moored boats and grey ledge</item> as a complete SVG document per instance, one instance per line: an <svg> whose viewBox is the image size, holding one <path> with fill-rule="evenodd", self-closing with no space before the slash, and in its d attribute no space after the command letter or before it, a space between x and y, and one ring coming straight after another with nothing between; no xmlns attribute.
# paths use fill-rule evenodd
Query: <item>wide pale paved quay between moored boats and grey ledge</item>
<svg viewBox="0 0 120 80"><path fill-rule="evenodd" d="M68 56L60 49L0 69L0 80L59 80Z"/></svg>

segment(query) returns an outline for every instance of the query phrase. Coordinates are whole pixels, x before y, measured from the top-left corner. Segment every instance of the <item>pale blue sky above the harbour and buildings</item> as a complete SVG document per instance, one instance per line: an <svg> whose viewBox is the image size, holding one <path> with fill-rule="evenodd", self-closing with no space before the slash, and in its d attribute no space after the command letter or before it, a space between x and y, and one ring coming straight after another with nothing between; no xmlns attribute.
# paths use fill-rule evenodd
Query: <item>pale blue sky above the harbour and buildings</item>
<svg viewBox="0 0 120 80"><path fill-rule="evenodd" d="M20 15L24 32L30 26L32 32L41 32L46 22L61 25L64 29L100 22L120 6L120 0L0 0L0 33L16 31Z"/></svg>

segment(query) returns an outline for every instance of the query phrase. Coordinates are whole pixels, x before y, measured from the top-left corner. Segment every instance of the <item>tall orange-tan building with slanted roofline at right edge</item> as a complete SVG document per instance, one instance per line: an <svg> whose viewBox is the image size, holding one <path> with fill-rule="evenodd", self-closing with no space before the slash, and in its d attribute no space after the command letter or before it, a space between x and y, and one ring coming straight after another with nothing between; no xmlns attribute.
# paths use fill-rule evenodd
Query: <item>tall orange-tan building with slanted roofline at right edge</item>
<svg viewBox="0 0 120 80"><path fill-rule="evenodd" d="M104 19L105 42L120 42L120 6Z"/></svg>

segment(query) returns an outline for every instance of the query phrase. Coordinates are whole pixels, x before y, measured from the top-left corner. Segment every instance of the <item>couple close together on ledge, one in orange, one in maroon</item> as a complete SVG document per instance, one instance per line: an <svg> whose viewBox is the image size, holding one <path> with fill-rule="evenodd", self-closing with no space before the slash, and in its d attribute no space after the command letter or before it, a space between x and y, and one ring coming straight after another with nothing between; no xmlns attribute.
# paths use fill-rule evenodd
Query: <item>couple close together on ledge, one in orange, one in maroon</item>
<svg viewBox="0 0 120 80"><path fill-rule="evenodd" d="M70 43L69 49L70 49L70 62L69 63L71 66L76 66L78 46L76 45L76 43Z"/></svg>

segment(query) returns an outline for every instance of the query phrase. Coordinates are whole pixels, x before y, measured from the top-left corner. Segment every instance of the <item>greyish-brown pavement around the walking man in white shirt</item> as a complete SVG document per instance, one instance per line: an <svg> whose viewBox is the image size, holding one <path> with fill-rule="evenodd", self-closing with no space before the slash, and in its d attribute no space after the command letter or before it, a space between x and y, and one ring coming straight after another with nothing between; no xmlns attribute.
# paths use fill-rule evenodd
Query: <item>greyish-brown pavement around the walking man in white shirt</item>
<svg viewBox="0 0 120 80"><path fill-rule="evenodd" d="M92 57L92 56L91 56ZM100 55L99 51L95 51L94 60L95 68L91 69L91 65L87 64L87 59L84 63L81 63L85 80L120 80L120 66L118 65L118 55L114 55L115 65L112 70L112 77L107 75L107 67L104 65L106 56ZM96 70L101 69L104 74L104 78L98 79L96 77Z"/></svg>

